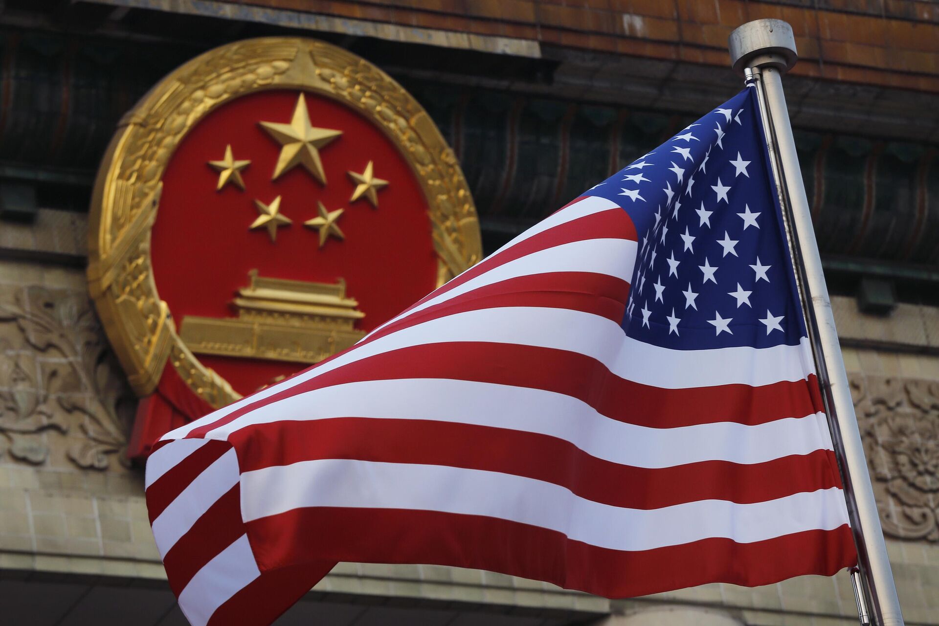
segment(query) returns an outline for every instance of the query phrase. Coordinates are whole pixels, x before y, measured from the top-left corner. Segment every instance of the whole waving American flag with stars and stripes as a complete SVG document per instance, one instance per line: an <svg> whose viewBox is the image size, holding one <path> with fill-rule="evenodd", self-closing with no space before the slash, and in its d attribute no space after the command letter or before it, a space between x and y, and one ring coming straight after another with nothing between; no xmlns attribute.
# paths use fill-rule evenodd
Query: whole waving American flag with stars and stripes
<svg viewBox="0 0 939 626"><path fill-rule="evenodd" d="M855 562L752 89L284 382L162 437L193 626L338 561L608 597Z"/></svg>

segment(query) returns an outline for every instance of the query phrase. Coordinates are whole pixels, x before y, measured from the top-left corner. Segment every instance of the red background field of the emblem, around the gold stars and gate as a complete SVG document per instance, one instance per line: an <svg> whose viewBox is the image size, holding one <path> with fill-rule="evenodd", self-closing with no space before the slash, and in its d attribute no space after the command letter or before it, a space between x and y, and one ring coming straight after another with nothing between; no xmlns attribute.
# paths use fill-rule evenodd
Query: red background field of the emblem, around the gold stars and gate
<svg viewBox="0 0 939 626"><path fill-rule="evenodd" d="M438 258L427 204L408 161L369 120L345 105L305 93L310 123L341 130L319 148L324 186L301 165L271 180L281 145L259 122L288 124L300 92L255 92L219 107L190 130L162 176L163 190L151 235L153 277L177 327L186 315L235 317L231 306L248 272L266 278L335 282L359 301L369 330L422 298L436 286ZM208 165L223 160L231 145L235 160L251 160L240 171L245 190L227 184L216 191L219 173ZM374 208L363 196L349 202L356 183L347 176L374 162L374 176L388 181ZM258 217L254 200L269 205L281 196L280 213L293 223L249 230ZM345 239L319 247L318 232L303 225L316 218L317 201L327 210L345 208L336 224ZM308 363L198 355L241 394L251 393Z"/></svg>

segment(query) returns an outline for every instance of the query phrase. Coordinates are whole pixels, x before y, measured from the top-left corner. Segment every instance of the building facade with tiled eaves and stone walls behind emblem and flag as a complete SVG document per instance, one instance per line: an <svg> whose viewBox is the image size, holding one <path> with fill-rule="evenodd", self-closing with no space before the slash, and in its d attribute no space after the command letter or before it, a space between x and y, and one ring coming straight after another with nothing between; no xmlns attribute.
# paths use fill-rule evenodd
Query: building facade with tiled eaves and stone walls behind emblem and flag
<svg viewBox="0 0 939 626"><path fill-rule="evenodd" d="M904 616L939 624L939 5L926 0L8 0L0 621L186 623L147 520L142 401L86 273L96 172L122 116L164 76L258 37L361 56L452 147L488 253L742 88L727 36L764 17L793 25L801 56L784 84ZM272 288L263 281L245 282L246 301ZM336 307L355 308L345 287L335 294ZM608 601L495 573L343 563L277 623L779 626L855 615L844 574Z"/></svg>

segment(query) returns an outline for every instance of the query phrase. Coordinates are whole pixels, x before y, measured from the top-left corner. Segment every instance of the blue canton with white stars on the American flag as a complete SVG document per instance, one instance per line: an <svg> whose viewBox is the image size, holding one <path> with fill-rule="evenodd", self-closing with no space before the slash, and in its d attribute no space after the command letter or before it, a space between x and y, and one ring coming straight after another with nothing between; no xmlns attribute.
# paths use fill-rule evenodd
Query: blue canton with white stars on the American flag
<svg viewBox="0 0 939 626"><path fill-rule="evenodd" d="M623 328L677 349L798 344L806 335L753 89L595 186L639 254Z"/></svg>

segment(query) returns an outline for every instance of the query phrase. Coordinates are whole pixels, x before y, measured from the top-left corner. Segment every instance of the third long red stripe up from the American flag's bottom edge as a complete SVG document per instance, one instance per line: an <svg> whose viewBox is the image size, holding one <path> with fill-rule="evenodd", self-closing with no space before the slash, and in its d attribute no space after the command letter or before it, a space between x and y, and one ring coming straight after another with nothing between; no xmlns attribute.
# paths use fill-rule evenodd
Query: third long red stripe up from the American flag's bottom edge
<svg viewBox="0 0 939 626"><path fill-rule="evenodd" d="M689 389L660 389L612 374L600 361L566 350L519 344L452 342L421 344L378 354L321 374L231 414L193 429L188 436L208 431L305 391L363 380L452 378L545 389L577 398L612 420L651 428L673 428L716 421L755 425L784 418L802 418L820 410L807 380L772 385L719 385Z"/></svg>

